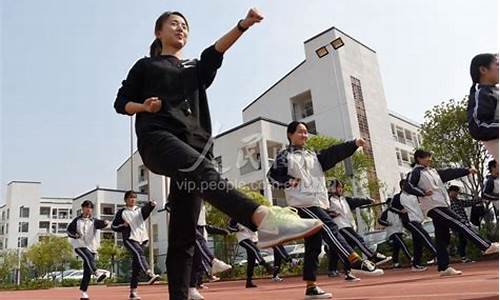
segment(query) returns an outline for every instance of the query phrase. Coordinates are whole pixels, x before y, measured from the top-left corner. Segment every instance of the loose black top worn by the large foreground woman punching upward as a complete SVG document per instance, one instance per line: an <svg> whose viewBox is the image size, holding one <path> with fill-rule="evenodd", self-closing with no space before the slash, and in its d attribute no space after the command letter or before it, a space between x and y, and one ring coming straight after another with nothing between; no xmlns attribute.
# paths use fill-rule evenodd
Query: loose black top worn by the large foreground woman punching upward
<svg viewBox="0 0 500 300"><path fill-rule="evenodd" d="M203 149L212 134L206 89L213 82L222 58L215 46L205 49L199 60L178 60L169 55L142 58L122 82L115 110L127 114L128 102L144 103L147 98L159 97L162 102L159 112L136 116L138 142L143 134L167 130L196 149Z"/></svg>

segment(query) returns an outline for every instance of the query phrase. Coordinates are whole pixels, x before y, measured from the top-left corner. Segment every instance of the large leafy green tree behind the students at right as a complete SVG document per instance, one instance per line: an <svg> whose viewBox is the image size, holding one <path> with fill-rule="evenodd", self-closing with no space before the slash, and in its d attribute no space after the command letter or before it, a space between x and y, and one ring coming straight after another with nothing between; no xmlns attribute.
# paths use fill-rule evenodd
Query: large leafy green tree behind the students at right
<svg viewBox="0 0 500 300"><path fill-rule="evenodd" d="M478 197L483 187L488 155L467 129L467 97L450 99L425 112L422 124L422 148L432 152L436 168L474 167L475 176L462 178L466 192Z"/></svg>

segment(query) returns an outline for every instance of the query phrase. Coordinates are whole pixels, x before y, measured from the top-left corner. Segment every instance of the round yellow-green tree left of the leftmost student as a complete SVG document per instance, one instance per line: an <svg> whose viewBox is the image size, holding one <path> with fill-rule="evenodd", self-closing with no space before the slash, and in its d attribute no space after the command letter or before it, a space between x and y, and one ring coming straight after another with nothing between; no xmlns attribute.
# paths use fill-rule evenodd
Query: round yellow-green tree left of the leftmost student
<svg viewBox="0 0 500 300"><path fill-rule="evenodd" d="M26 251L26 258L33 266L35 276L50 271L63 271L74 259L73 249L66 237L49 235Z"/></svg>

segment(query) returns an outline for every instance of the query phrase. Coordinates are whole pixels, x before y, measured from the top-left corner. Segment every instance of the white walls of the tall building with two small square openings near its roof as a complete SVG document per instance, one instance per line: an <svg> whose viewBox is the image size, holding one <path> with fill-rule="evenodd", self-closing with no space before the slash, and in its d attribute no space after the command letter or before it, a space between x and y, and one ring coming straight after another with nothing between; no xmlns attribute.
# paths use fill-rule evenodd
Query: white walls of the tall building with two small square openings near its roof
<svg viewBox="0 0 500 300"><path fill-rule="evenodd" d="M329 43L337 37L345 45L335 51ZM329 54L319 58L315 50L325 45ZM377 176L392 193L399 172L395 155L387 155L394 153L394 143L376 53L335 29L307 41L304 47L305 62L245 109L243 120L263 116L288 123L292 120L290 98L310 90L314 115L302 121L314 120L320 135L345 140L359 137L350 78L354 76L361 81ZM381 197L385 196L382 190Z"/></svg>

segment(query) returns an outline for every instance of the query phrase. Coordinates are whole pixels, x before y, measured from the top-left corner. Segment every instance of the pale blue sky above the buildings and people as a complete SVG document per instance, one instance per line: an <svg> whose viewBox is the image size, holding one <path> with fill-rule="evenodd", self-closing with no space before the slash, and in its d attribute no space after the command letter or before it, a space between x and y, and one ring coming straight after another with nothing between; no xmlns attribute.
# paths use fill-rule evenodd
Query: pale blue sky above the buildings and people
<svg viewBox="0 0 500 300"><path fill-rule="evenodd" d="M389 108L416 121L467 93L472 56L498 52L494 0L3 0L0 202L12 180L42 181L44 196L115 187L129 120L113 101L147 54L156 17L183 12L191 26L184 56L197 57L254 6L265 20L226 54L209 90L222 130L304 59L303 41L331 26L377 51Z"/></svg>

